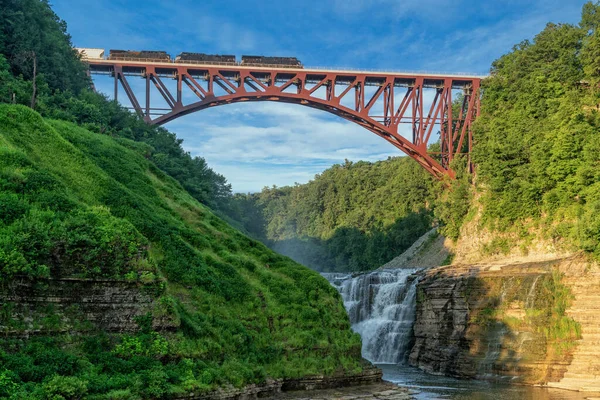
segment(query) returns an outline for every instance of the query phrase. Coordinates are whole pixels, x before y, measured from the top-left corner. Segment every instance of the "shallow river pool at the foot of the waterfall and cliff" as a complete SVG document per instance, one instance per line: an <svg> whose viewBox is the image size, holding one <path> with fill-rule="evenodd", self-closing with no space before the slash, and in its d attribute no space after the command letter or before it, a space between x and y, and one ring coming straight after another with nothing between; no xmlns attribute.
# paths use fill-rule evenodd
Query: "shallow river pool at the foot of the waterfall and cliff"
<svg viewBox="0 0 600 400"><path fill-rule="evenodd" d="M591 397L589 393L568 390L429 375L417 368L407 366L386 364L377 366L383 370L383 379L412 389L413 396L417 400L583 400Z"/></svg>

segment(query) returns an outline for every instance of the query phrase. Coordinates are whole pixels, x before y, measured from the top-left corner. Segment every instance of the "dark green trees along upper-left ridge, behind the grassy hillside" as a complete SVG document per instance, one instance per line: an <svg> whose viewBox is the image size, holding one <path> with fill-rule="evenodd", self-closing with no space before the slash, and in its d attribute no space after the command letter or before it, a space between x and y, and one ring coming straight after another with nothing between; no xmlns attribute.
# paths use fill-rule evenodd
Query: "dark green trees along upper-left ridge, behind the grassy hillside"
<svg viewBox="0 0 600 400"><path fill-rule="evenodd" d="M37 61L36 109L44 116L149 145L136 147L204 204L224 208L231 195L226 179L182 140L149 126L117 102L90 90L86 66L72 49L66 24L46 0L3 0L0 7L0 103L31 104L33 57Z"/></svg>

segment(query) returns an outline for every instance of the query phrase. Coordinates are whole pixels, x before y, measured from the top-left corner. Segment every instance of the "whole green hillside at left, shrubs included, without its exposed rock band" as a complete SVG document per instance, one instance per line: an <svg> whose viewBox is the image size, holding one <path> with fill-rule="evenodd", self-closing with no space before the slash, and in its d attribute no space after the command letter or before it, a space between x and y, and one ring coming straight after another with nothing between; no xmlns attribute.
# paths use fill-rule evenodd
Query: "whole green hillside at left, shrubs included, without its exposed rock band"
<svg viewBox="0 0 600 400"><path fill-rule="evenodd" d="M155 332L149 315L137 334L0 339L0 397L162 398L360 370L337 291L229 227L150 151L0 105L0 286L127 279L176 325Z"/></svg>

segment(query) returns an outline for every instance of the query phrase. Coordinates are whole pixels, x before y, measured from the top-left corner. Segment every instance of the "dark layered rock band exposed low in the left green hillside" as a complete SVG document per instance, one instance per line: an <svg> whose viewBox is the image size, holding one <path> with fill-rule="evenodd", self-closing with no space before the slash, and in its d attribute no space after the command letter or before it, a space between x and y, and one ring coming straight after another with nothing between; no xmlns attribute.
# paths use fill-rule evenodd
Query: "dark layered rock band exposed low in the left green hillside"
<svg viewBox="0 0 600 400"><path fill-rule="evenodd" d="M0 288L0 334L136 331L136 317L156 311L155 289L117 280L15 280ZM164 329L172 324L154 323Z"/></svg>

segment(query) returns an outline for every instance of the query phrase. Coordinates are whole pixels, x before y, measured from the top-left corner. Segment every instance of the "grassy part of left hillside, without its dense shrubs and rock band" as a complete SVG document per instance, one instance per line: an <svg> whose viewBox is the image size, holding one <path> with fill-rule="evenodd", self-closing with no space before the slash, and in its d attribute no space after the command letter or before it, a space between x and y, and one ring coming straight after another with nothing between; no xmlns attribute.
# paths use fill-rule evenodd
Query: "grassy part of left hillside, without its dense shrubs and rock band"
<svg viewBox="0 0 600 400"><path fill-rule="evenodd" d="M101 207L106 218L128 221L148 246L140 250L143 263L131 262L117 275L135 279L140 271L151 271L151 276L164 278L167 284L159 303L179 324L172 333L110 337L94 340L92 347L71 344L68 350L60 339L52 339L46 347L53 350L48 351L61 357L76 354L85 360L68 371L49 365L28 374L23 364L35 365L36 357L44 353L28 351L31 343L17 343L19 352L14 347L0 350L0 365L4 365L0 382L9 382L10 390L33 396L44 390L50 393L61 384L77 387L83 382L81 390L88 395L124 391L134 397L161 397L225 383L241 385L266 376L360 368L360 339L350 331L337 292L317 273L215 217L148 162L143 145L113 140L62 121L46 121L21 106L0 105L0 127L4 159L0 177L5 182L27 180L27 170L43 171L55 180L48 191L60 189L76 206L66 212L52 210L58 206L40 203L38 199L44 197L40 193L11 195L21 196L19 201L31 209L55 211L58 219L68 218L75 210ZM3 185L4 194L10 188ZM32 213L5 221L0 229L4 233L16 229ZM60 276L51 262L45 266L50 275ZM88 276L81 268L75 269L78 273L66 271ZM142 350L135 346L127 350L125 344L131 341L137 341ZM5 349L10 347L8 342L3 344ZM109 368L115 364L123 367ZM80 382L65 383L56 375L75 376ZM128 378L113 379L117 375ZM148 386L145 379L158 384ZM155 392L148 393L149 387Z"/></svg>

